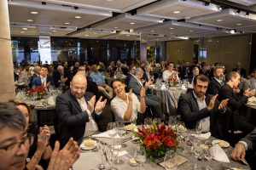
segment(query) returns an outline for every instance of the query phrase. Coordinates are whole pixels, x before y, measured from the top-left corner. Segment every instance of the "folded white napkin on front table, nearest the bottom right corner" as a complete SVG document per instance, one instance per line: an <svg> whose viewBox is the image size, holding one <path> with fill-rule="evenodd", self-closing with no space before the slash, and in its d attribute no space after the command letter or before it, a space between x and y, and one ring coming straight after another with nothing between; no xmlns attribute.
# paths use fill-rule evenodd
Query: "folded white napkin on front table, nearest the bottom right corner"
<svg viewBox="0 0 256 170"><path fill-rule="evenodd" d="M221 147L218 144L213 145L210 149L210 154L212 156L212 159L215 161L221 161L225 163L230 163L229 157L226 155L224 150L221 149Z"/></svg>

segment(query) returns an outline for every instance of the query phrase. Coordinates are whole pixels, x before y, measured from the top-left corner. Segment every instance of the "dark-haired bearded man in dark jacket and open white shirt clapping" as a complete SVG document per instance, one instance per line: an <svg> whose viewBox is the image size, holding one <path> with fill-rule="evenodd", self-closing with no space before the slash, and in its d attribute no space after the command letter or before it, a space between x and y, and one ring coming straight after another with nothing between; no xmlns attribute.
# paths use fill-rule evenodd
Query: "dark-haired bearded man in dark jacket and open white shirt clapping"
<svg viewBox="0 0 256 170"><path fill-rule="evenodd" d="M220 103L216 99L218 95L206 94L209 78L205 75L198 75L194 78L194 89L188 94L182 94L178 99L177 113L181 115L186 127L195 128L200 123L201 132L211 131L212 136L224 138L224 132L218 129L218 114L226 111L228 99Z"/></svg>

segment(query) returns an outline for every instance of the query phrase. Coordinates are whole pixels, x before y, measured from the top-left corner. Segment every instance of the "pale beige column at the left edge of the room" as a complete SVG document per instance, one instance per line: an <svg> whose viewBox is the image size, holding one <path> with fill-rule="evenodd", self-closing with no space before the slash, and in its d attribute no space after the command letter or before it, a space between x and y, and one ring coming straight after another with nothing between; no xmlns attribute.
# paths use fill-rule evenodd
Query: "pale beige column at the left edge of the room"
<svg viewBox="0 0 256 170"><path fill-rule="evenodd" d="M0 102L15 98L8 1L0 1Z"/></svg>

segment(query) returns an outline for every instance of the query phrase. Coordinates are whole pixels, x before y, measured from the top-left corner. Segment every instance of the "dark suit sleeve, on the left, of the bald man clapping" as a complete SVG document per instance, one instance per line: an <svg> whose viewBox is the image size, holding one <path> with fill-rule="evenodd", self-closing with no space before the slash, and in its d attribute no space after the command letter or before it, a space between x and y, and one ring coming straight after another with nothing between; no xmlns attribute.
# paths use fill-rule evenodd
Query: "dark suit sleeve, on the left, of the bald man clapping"
<svg viewBox="0 0 256 170"><path fill-rule="evenodd" d="M72 114L72 101L66 99L66 96L60 95L56 98L56 113L62 125L66 127L76 127L78 125L84 124L84 122L89 122L89 116L87 111L83 111L79 114Z"/></svg>

